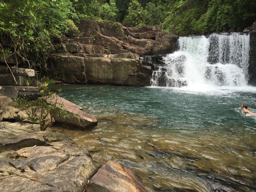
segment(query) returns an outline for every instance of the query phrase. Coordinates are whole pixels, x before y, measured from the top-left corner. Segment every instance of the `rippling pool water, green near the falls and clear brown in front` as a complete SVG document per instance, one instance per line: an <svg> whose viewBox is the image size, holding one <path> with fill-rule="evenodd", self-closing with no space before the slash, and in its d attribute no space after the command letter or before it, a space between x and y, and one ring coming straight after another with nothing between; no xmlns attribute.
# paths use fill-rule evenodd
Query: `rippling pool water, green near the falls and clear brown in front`
<svg viewBox="0 0 256 192"><path fill-rule="evenodd" d="M114 160L130 167L157 191L256 191L256 120L239 109L247 103L255 112L255 93L62 88L62 97L98 119L90 130L62 132L98 164Z"/></svg>

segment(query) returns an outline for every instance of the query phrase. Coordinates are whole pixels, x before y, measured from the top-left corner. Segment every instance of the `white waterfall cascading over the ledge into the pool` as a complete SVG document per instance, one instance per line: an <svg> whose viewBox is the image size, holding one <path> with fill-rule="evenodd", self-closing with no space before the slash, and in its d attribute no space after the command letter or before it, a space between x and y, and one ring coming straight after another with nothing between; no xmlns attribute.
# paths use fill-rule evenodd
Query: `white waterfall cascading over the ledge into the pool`
<svg viewBox="0 0 256 192"><path fill-rule="evenodd" d="M163 57L153 86L244 86L248 80L250 34L180 37L180 49ZM147 58L147 60L149 60Z"/></svg>

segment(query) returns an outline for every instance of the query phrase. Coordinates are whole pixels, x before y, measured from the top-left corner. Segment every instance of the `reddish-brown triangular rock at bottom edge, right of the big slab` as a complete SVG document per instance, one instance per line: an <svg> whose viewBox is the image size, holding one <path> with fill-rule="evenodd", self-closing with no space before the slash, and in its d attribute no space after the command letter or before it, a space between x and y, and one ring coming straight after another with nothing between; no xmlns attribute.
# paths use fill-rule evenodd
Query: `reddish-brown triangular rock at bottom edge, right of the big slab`
<svg viewBox="0 0 256 192"><path fill-rule="evenodd" d="M87 189L88 192L152 191L133 171L114 161L108 161L100 168L90 180Z"/></svg>

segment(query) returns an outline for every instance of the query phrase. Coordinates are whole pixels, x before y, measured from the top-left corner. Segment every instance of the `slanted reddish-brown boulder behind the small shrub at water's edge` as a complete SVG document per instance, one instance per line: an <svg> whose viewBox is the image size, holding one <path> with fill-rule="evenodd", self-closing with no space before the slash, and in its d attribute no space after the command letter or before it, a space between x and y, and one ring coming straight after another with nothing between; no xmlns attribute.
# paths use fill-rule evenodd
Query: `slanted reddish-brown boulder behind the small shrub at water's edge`
<svg viewBox="0 0 256 192"><path fill-rule="evenodd" d="M62 103L64 105L64 108L68 110L68 112L71 114L72 112L76 114L75 117L72 118L55 118L56 124L64 124L67 125L70 129L79 129L79 130L86 130L89 128L92 128L98 124L97 119L81 110L79 106L77 106L74 103L71 103L68 100L65 100L64 98L58 97L57 95L52 95L52 98L48 100L48 103L54 102L55 100L58 100L58 102Z"/></svg>

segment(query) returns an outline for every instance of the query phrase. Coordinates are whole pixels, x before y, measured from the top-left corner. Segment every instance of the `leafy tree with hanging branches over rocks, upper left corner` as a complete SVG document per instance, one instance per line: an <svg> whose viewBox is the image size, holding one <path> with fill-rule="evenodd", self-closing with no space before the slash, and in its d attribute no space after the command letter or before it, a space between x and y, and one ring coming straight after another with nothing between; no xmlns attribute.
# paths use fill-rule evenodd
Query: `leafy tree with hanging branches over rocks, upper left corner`
<svg viewBox="0 0 256 192"><path fill-rule="evenodd" d="M46 68L50 37L65 33L70 19L78 20L72 10L69 0L2 0L0 54L14 55L16 66Z"/></svg>

